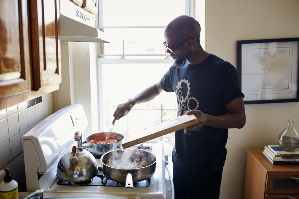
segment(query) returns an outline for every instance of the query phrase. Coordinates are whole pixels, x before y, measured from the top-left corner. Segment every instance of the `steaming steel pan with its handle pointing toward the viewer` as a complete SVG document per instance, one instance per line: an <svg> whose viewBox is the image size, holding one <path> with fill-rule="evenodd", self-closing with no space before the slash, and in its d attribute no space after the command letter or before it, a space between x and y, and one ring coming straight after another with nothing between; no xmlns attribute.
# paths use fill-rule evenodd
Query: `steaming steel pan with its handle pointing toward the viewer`
<svg viewBox="0 0 299 199"><path fill-rule="evenodd" d="M144 157L149 162L148 166L137 169L119 169L107 165L108 160L124 163L136 155ZM102 155L101 162L103 174L108 179L126 183L126 187L133 187L133 183L149 179L156 169L156 156L152 152L143 149L112 150Z"/></svg>

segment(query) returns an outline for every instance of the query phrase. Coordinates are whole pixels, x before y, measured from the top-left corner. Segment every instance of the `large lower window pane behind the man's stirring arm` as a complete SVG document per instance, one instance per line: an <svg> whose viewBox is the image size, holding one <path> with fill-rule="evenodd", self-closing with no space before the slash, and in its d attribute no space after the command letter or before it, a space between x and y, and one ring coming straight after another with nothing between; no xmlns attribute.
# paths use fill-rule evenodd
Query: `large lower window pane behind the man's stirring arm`
<svg viewBox="0 0 299 199"><path fill-rule="evenodd" d="M160 81L169 67L170 64L103 64L104 131L110 131L118 104ZM174 92L162 92L149 102L136 104L130 113L115 122L112 131L134 133L161 123L161 115L162 121L177 117L177 98Z"/></svg>

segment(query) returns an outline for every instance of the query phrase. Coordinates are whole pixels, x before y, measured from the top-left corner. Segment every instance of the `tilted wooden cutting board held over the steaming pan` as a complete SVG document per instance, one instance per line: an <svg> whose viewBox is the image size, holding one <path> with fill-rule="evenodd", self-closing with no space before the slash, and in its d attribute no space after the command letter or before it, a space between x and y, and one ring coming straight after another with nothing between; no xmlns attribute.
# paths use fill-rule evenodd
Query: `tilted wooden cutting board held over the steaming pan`
<svg viewBox="0 0 299 199"><path fill-rule="evenodd" d="M168 133L181 130L183 128L191 127L197 124L195 115L182 115L173 120L159 123L155 126L142 129L133 134L129 134L124 138L122 147L124 149L140 144L145 141L166 135Z"/></svg>

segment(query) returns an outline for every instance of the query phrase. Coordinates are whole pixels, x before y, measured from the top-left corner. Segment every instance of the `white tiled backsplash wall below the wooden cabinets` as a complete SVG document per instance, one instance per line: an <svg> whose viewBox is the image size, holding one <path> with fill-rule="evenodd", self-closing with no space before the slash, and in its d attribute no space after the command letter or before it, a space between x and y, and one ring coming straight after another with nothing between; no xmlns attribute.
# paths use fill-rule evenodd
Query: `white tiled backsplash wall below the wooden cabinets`
<svg viewBox="0 0 299 199"><path fill-rule="evenodd" d="M22 136L54 110L53 93L0 110L0 168L10 168L19 191L26 191Z"/></svg>

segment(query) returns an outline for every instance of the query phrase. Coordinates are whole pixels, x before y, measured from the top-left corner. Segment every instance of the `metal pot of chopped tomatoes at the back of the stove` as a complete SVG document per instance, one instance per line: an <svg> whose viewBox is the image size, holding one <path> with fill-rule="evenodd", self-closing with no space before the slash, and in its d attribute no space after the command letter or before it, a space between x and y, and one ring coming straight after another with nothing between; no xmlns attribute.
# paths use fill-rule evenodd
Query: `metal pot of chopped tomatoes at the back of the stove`
<svg viewBox="0 0 299 199"><path fill-rule="evenodd" d="M110 144L94 144L90 143L90 140L97 140L97 141L105 141L106 136L109 135L110 132L100 132L94 133L88 136L85 141L82 143L82 148L92 152L96 155L103 155L111 150L122 149L122 142L124 139L124 135L121 133L111 132L109 139L116 139L117 142L110 143ZM84 144L84 145L83 145ZM87 145L88 144L88 145Z"/></svg>

